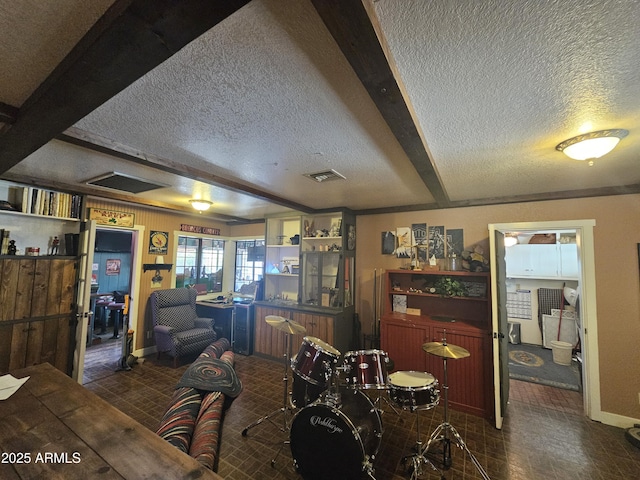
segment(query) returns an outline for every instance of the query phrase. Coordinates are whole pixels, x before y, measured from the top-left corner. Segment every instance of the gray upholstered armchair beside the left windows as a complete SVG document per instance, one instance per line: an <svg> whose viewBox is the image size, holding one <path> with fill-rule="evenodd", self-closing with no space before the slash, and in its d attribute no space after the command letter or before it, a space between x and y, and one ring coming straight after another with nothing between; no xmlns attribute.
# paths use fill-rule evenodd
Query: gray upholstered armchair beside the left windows
<svg viewBox="0 0 640 480"><path fill-rule="evenodd" d="M178 358L199 354L216 340L212 318L196 314L196 295L193 288L156 290L151 294L151 318L158 355L161 352Z"/></svg>

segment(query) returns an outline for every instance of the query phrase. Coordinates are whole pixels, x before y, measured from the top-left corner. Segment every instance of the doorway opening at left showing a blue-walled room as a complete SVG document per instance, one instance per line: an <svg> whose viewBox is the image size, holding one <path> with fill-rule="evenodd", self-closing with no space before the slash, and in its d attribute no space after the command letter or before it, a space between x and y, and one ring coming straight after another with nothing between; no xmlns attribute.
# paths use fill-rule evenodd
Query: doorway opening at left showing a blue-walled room
<svg viewBox="0 0 640 480"><path fill-rule="evenodd" d="M91 301L82 383L104 378L117 369L128 327L125 296L130 298L136 255L136 232L96 228L91 265Z"/></svg>

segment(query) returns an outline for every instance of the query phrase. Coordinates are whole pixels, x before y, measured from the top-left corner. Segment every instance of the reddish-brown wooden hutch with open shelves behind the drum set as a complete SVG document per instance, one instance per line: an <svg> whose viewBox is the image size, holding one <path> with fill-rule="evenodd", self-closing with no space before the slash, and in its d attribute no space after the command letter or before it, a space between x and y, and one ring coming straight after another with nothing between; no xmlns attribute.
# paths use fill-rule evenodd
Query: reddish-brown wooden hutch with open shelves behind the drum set
<svg viewBox="0 0 640 480"><path fill-rule="evenodd" d="M493 369L490 274L483 272L389 270L385 276L381 348L396 371L429 372L443 381L442 358L423 345L441 342L469 351L449 361L453 408L491 418Z"/></svg>

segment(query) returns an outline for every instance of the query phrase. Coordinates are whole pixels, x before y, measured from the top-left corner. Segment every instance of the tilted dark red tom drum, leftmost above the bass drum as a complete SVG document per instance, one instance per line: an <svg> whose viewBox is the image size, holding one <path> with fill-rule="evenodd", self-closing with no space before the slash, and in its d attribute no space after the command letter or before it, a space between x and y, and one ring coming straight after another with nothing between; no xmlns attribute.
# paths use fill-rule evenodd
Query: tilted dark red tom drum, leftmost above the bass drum
<svg viewBox="0 0 640 480"><path fill-rule="evenodd" d="M338 361L340 352L316 337L304 337L300 351L291 361L291 368L314 385L326 385Z"/></svg>

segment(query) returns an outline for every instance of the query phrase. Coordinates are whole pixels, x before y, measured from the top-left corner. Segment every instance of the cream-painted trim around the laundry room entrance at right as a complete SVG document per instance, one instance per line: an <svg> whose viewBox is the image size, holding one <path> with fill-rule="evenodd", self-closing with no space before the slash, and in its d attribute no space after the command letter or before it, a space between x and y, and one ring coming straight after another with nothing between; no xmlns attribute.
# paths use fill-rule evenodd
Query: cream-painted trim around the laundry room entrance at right
<svg viewBox="0 0 640 480"><path fill-rule="evenodd" d="M583 407L587 417L596 421L603 421L600 404L600 366L598 353L598 315L596 304L596 276L593 229L596 225L593 219L559 220L547 222L517 222L489 224L490 265L495 272L496 249L495 232L539 231L539 230L575 230L578 247L578 266L580 268L580 338L586 354L582 364ZM508 332L500 331L498 319L497 275L491 275L491 317L493 329L493 371L495 390L496 428L501 428L504 412L500 403L500 362L499 336Z"/></svg>

